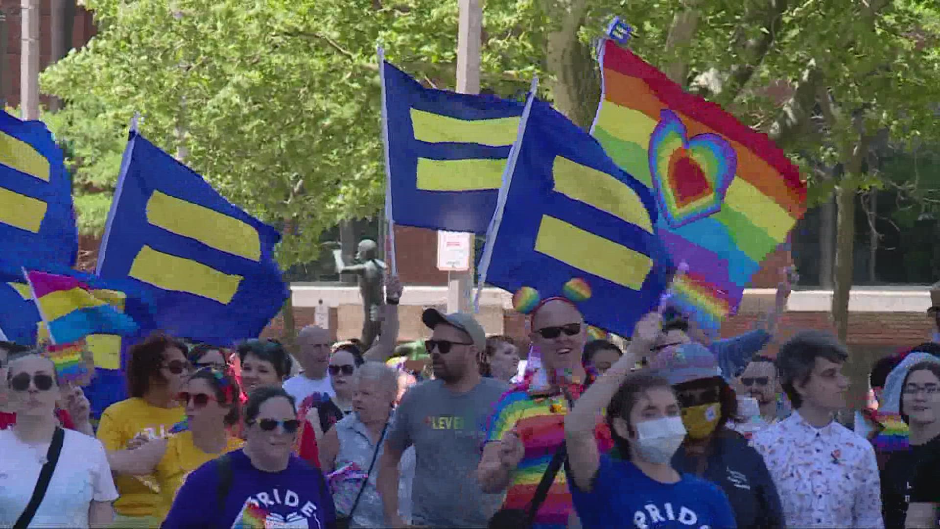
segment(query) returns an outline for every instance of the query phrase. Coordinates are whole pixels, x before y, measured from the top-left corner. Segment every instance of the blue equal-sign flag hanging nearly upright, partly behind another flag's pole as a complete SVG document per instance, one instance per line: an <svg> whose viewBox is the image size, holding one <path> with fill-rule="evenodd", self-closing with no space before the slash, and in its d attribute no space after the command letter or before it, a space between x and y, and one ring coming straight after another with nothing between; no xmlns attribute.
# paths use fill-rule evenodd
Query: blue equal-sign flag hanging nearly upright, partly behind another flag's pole
<svg viewBox="0 0 940 529"><path fill-rule="evenodd" d="M396 224L486 233L524 104L424 88L382 64Z"/></svg>

